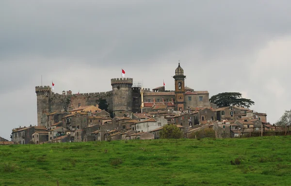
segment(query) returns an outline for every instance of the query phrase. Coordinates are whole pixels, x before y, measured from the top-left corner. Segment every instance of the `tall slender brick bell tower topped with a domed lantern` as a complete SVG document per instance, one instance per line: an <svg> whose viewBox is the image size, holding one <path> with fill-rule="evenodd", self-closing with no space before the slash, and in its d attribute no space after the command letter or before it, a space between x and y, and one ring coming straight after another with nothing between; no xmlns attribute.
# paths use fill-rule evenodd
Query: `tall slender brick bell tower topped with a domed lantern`
<svg viewBox="0 0 291 186"><path fill-rule="evenodd" d="M175 105L176 110L182 111L184 109L184 94L185 94L185 78L184 70L181 68L180 63L175 70Z"/></svg>

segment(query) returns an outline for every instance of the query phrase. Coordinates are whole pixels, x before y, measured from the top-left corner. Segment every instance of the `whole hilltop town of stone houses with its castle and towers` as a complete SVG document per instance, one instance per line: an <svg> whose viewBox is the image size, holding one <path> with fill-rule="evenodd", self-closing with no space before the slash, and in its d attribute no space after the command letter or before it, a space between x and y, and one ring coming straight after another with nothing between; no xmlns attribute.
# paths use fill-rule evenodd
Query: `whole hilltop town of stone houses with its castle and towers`
<svg viewBox="0 0 291 186"><path fill-rule="evenodd" d="M159 139L167 124L175 124L185 138L205 128L215 130L217 138L280 130L267 122L266 113L236 106L218 108L210 103L208 91L185 86L180 63L173 78L174 91L165 90L165 86L143 88L132 78L111 79L112 90L103 93L59 94L50 86L37 86L37 126L13 129L12 141L40 144ZM101 100L108 109L99 108Z"/></svg>

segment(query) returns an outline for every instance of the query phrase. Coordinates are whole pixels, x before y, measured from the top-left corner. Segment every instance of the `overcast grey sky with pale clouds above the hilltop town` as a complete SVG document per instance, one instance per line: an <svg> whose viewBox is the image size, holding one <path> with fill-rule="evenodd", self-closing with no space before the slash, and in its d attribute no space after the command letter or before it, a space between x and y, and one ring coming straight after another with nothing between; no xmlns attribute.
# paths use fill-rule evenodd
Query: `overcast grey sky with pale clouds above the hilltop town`
<svg viewBox="0 0 291 186"><path fill-rule="evenodd" d="M106 92L110 79L239 92L275 123L291 109L290 0L0 1L0 136L37 125L35 86ZM41 80L42 77L42 80Z"/></svg>

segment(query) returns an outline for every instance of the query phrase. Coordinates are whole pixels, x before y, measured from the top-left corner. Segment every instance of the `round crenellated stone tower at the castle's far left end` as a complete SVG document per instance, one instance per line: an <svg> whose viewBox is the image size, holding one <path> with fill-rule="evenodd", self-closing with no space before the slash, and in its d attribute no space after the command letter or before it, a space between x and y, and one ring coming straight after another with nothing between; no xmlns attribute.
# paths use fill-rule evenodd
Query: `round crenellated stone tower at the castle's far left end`
<svg viewBox="0 0 291 186"><path fill-rule="evenodd" d="M35 87L36 99L37 99L37 125L41 125L41 118L43 113L49 113L50 111L50 94L51 89L49 86L37 86Z"/></svg>

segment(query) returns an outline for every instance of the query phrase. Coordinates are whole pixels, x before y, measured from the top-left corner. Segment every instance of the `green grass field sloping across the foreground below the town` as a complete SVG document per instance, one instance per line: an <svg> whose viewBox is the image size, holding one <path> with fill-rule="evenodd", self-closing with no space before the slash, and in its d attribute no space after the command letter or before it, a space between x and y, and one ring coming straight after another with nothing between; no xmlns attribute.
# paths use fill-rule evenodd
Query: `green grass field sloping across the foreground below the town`
<svg viewBox="0 0 291 186"><path fill-rule="evenodd" d="M290 147L291 136L0 146L0 186L290 186Z"/></svg>

